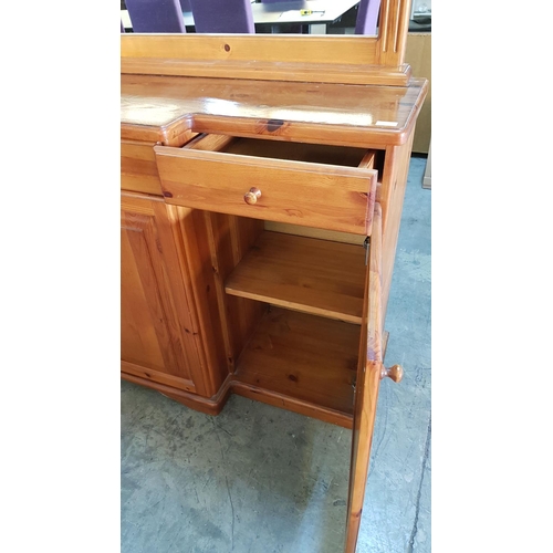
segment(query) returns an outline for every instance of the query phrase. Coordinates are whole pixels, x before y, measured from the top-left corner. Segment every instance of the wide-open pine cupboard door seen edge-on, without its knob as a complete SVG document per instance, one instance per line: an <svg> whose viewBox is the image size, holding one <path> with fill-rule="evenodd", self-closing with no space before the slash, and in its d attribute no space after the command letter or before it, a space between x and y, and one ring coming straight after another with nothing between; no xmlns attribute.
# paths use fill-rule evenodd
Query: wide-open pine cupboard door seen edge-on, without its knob
<svg viewBox="0 0 553 553"><path fill-rule="evenodd" d="M368 270L365 281L365 294L367 296L365 298L363 310L359 361L355 385L345 553L354 553L357 545L371 444L373 441L376 401L384 371L383 313L380 302L382 209L379 204L375 204L369 248Z"/></svg>

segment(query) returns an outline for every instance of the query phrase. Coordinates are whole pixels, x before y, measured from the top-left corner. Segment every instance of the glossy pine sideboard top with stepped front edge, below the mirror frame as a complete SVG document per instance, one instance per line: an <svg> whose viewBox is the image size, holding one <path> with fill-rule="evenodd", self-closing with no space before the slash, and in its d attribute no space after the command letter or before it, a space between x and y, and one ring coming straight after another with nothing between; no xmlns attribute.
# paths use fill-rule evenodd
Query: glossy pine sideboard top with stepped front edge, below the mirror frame
<svg viewBox="0 0 553 553"><path fill-rule="evenodd" d="M191 133L400 145L428 82L408 86L122 74L122 138L179 146Z"/></svg>

